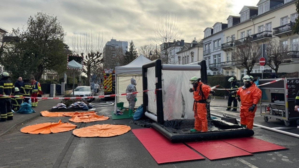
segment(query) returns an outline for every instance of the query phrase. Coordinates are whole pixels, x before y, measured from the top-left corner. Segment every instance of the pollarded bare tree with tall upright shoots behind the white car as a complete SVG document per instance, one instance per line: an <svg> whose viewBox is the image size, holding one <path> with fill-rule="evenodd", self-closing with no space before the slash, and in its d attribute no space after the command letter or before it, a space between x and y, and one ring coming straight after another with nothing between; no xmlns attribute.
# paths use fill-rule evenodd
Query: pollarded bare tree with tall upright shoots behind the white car
<svg viewBox="0 0 299 168"><path fill-rule="evenodd" d="M91 70L98 68L103 62L102 50L103 50L103 35L100 33L94 35L92 33L85 33L75 35L71 40L71 47L74 53L84 57L83 73L87 75L87 85L90 85Z"/></svg>

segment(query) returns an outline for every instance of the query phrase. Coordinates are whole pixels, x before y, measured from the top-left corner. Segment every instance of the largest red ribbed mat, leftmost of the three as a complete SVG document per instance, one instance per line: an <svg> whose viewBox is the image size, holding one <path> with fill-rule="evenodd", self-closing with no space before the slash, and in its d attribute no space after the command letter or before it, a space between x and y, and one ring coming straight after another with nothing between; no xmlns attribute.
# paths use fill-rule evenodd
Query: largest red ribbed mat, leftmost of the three
<svg viewBox="0 0 299 168"><path fill-rule="evenodd" d="M205 159L183 143L172 143L153 128L132 130L158 164Z"/></svg>

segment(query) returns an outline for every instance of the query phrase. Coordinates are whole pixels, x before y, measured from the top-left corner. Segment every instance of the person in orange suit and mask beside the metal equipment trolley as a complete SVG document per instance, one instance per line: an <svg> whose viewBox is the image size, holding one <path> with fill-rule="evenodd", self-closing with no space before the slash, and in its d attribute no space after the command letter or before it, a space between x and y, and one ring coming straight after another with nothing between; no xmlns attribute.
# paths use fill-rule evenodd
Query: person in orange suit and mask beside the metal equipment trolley
<svg viewBox="0 0 299 168"><path fill-rule="evenodd" d="M231 95L240 95L242 100L240 107L241 127L247 127L252 130L255 111L257 111L256 106L262 97L262 91L254 83L255 79L253 76L246 75L242 79L244 86L237 91L231 92Z"/></svg>

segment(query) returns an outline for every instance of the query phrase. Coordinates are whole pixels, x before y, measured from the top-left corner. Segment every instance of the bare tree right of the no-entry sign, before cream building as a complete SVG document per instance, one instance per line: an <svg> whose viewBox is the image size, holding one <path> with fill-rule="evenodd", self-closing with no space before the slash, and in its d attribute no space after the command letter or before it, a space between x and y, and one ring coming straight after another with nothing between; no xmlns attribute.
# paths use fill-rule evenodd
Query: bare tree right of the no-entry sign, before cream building
<svg viewBox="0 0 299 168"><path fill-rule="evenodd" d="M273 40L267 44L267 65L269 65L275 73L278 72L279 65L289 58L288 51L288 46L283 45L280 41Z"/></svg>

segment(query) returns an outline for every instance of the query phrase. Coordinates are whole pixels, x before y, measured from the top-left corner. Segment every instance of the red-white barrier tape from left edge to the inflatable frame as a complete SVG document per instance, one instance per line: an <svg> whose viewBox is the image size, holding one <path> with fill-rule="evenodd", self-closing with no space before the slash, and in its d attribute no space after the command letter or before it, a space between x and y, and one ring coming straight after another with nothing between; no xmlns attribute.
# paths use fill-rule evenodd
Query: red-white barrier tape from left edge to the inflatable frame
<svg viewBox="0 0 299 168"><path fill-rule="evenodd" d="M162 90L162 88L151 89L151 90ZM151 90L143 90L143 91L131 92L131 93L120 93L120 94L114 94L114 95L99 95L99 96L85 96L85 97L25 97L25 96L13 96L13 95L0 95L0 96L9 96L9 97L16 97L16 98L37 98L37 99L82 99L82 98L104 98L104 97L131 95L131 94L137 94L140 92L148 92Z"/></svg>

